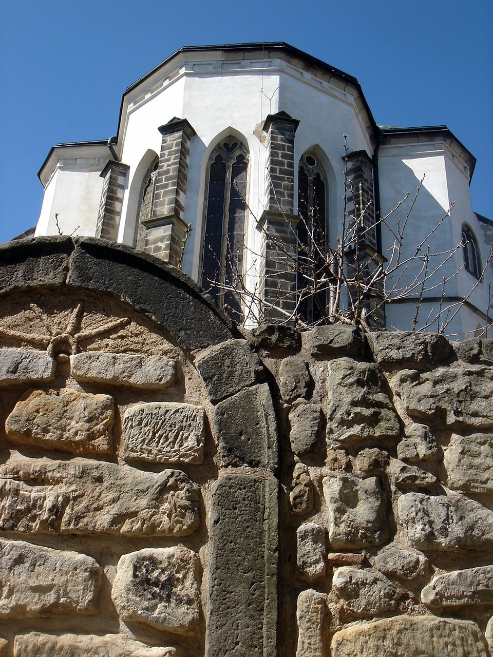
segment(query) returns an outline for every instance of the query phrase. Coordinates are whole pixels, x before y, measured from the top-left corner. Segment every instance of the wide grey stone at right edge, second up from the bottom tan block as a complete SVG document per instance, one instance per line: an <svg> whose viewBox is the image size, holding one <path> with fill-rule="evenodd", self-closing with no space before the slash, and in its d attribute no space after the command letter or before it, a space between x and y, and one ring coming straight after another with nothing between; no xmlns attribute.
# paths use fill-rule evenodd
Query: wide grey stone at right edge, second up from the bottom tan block
<svg viewBox="0 0 493 657"><path fill-rule="evenodd" d="M420 550L493 548L493 512L479 502L453 495L406 493L398 500L408 539Z"/></svg>

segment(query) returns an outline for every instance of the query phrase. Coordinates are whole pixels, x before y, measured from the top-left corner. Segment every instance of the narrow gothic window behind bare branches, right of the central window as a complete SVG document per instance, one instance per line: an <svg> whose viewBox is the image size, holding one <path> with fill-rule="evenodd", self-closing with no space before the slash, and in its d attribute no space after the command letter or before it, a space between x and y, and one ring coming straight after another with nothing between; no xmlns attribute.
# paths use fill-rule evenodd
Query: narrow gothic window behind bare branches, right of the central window
<svg viewBox="0 0 493 657"><path fill-rule="evenodd" d="M316 155L305 153L298 170L299 314L308 323L319 321L327 307L327 176Z"/></svg>

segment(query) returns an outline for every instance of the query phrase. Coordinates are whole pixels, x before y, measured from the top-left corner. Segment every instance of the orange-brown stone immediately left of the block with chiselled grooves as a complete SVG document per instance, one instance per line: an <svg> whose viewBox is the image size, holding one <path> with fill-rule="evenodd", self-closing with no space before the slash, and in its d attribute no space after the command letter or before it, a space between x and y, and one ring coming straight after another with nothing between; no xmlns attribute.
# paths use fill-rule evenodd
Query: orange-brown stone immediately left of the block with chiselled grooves
<svg viewBox="0 0 493 657"><path fill-rule="evenodd" d="M78 390L33 390L7 418L7 438L75 454L112 451L113 399Z"/></svg>

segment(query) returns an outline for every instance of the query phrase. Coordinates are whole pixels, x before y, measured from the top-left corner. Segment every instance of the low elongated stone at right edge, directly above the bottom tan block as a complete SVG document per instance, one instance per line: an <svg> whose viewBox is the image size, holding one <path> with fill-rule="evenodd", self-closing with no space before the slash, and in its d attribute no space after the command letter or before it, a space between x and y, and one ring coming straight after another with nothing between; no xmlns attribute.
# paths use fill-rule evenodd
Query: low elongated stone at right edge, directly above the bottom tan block
<svg viewBox="0 0 493 657"><path fill-rule="evenodd" d="M492 604L493 566L453 570L437 575L421 591L421 602L430 607Z"/></svg>

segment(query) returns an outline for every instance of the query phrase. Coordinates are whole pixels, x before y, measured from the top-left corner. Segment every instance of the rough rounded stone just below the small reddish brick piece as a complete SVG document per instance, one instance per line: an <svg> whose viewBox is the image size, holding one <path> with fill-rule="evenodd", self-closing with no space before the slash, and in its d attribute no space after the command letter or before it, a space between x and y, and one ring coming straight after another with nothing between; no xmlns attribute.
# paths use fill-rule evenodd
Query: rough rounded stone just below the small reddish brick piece
<svg viewBox="0 0 493 657"><path fill-rule="evenodd" d="M394 609L402 591L370 568L342 566L334 571L332 586L354 614L373 616Z"/></svg>

